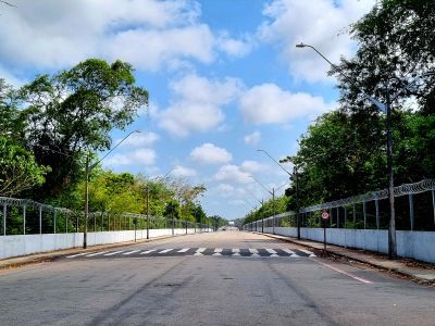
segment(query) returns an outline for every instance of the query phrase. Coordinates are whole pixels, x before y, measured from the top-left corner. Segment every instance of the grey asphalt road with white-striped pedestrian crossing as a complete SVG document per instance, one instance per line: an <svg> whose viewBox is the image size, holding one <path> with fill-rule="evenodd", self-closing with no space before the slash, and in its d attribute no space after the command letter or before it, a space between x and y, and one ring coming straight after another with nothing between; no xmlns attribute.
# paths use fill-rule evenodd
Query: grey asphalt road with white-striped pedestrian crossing
<svg viewBox="0 0 435 326"><path fill-rule="evenodd" d="M435 289L223 231L0 272L1 325L435 325Z"/></svg>

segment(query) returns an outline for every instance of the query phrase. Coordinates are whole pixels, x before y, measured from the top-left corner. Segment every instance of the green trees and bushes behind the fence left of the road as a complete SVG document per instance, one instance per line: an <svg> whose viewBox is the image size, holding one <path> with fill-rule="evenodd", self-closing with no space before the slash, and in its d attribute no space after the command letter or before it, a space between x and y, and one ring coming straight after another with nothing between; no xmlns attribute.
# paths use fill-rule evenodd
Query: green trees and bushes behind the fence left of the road
<svg viewBox="0 0 435 326"><path fill-rule="evenodd" d="M89 59L67 71L39 75L20 89L0 79L0 196L83 211L87 158L113 147L148 105L126 62ZM217 226L197 199L207 189L185 179L114 173L97 166L89 177L90 212L128 212ZM20 218L18 214L16 218ZM10 222L11 224L14 221Z"/></svg>

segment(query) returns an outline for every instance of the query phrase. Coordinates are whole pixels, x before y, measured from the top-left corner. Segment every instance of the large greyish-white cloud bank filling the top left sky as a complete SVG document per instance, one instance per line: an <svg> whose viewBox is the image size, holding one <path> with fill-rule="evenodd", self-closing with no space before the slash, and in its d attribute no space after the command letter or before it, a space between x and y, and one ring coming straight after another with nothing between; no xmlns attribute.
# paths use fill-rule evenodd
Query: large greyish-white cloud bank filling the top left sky
<svg viewBox="0 0 435 326"><path fill-rule="evenodd" d="M200 15L187 0L28 1L2 13L0 58L45 68L86 58L120 58L152 71L185 59L209 63L216 40Z"/></svg>

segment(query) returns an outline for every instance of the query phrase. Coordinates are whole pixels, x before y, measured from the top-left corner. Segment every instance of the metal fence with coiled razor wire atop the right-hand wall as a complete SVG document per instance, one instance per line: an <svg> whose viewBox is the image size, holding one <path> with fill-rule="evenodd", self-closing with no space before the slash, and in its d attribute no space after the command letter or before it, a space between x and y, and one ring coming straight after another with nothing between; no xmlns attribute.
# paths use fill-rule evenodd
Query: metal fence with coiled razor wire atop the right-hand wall
<svg viewBox="0 0 435 326"><path fill-rule="evenodd" d="M435 230L435 180L395 187L396 226L402 230ZM301 227L323 227L321 213L327 211L331 228L387 229L389 221L388 190L325 202L299 210ZM245 225L245 229L296 227L296 212L286 212ZM264 225L263 225L264 223Z"/></svg>

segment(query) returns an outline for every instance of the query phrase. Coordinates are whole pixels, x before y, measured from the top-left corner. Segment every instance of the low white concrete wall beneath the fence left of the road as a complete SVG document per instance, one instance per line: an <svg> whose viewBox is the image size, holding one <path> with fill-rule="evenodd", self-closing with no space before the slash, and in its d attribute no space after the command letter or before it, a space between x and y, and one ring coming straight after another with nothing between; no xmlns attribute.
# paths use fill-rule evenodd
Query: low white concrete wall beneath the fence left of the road
<svg viewBox="0 0 435 326"><path fill-rule="evenodd" d="M211 230L209 230L211 231ZM188 234L194 234L194 228L187 229ZM197 229L199 233L199 229ZM175 228L174 235L186 234L185 228ZM150 229L150 238L171 236L172 229ZM147 238L146 229L136 230L136 239ZM117 243L134 241L134 230L88 233L88 246ZM79 234L45 234L25 236L0 236L0 259L40 253L60 249L69 249L83 246L83 233Z"/></svg>

